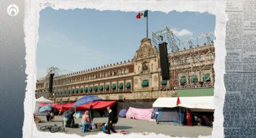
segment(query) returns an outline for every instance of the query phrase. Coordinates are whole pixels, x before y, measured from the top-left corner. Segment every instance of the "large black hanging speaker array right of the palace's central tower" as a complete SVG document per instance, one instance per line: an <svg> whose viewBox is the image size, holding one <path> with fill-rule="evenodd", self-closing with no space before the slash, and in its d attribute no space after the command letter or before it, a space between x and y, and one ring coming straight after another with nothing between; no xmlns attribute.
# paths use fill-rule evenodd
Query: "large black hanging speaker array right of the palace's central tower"
<svg viewBox="0 0 256 138"><path fill-rule="evenodd" d="M169 80L169 64L167 56L167 43L158 44L159 54L160 54L160 67L161 67L161 76L163 80Z"/></svg>

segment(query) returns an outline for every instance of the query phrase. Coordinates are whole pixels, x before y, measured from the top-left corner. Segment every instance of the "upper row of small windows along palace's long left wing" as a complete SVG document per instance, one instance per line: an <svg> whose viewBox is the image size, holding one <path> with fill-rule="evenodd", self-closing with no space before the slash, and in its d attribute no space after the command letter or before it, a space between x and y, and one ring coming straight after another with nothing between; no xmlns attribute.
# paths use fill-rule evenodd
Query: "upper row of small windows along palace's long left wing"
<svg viewBox="0 0 256 138"><path fill-rule="evenodd" d="M65 80L58 80L58 81L54 82L54 85L64 85L67 83L82 82L82 81L86 81L86 80L93 80L93 79L99 79L102 77L111 77L111 76L117 76L117 75L128 74L128 73L129 73L128 68L122 68L120 70L113 70L113 71L107 71L104 73L90 74L90 75L81 76L81 77L74 77L74 78L65 79Z"/></svg>

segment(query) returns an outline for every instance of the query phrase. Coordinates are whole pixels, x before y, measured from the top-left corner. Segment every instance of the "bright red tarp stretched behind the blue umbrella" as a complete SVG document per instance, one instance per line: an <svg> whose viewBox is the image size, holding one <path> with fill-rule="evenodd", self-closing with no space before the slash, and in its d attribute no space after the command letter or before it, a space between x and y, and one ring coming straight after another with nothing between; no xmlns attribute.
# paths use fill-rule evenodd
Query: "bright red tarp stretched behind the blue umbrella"
<svg viewBox="0 0 256 138"><path fill-rule="evenodd" d="M104 109L107 108L107 106L112 106L116 101L95 101L93 103L84 104L82 106L76 107L76 110L89 110L90 106L93 106L93 109ZM60 108L62 107L62 112L65 112L66 110L73 109L74 103L67 103L67 104L57 104L52 103L52 107L55 107L58 111L60 111ZM45 106L46 103L40 103L40 105Z"/></svg>

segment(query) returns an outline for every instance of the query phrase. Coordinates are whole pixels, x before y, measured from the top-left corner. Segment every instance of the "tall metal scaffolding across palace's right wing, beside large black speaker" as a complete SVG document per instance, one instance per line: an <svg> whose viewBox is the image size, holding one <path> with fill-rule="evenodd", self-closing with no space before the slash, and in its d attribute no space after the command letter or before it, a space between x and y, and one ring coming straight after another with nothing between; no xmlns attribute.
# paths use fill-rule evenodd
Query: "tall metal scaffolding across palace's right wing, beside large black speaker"
<svg viewBox="0 0 256 138"><path fill-rule="evenodd" d="M152 44L157 49L158 44L164 41L167 42L170 70L169 88L176 89L214 85L214 39L213 32L186 40L180 40L167 27L160 31L152 32ZM208 59L205 60L207 57ZM202 77L205 77L205 74L211 74L212 81L209 82L209 78L202 79ZM181 76L186 77L186 83L181 83ZM194 81L193 76L200 79Z"/></svg>

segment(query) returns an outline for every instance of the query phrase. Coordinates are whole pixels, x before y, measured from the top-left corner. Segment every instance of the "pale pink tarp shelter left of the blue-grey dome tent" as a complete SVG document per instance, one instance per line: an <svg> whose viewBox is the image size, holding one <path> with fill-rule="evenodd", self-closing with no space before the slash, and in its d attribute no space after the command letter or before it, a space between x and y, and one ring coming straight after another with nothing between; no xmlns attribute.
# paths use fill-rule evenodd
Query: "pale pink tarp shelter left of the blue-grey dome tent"
<svg viewBox="0 0 256 138"><path fill-rule="evenodd" d="M130 107L126 113L126 118L134 118L140 120L149 120L151 119L151 114L154 109L137 109Z"/></svg>

